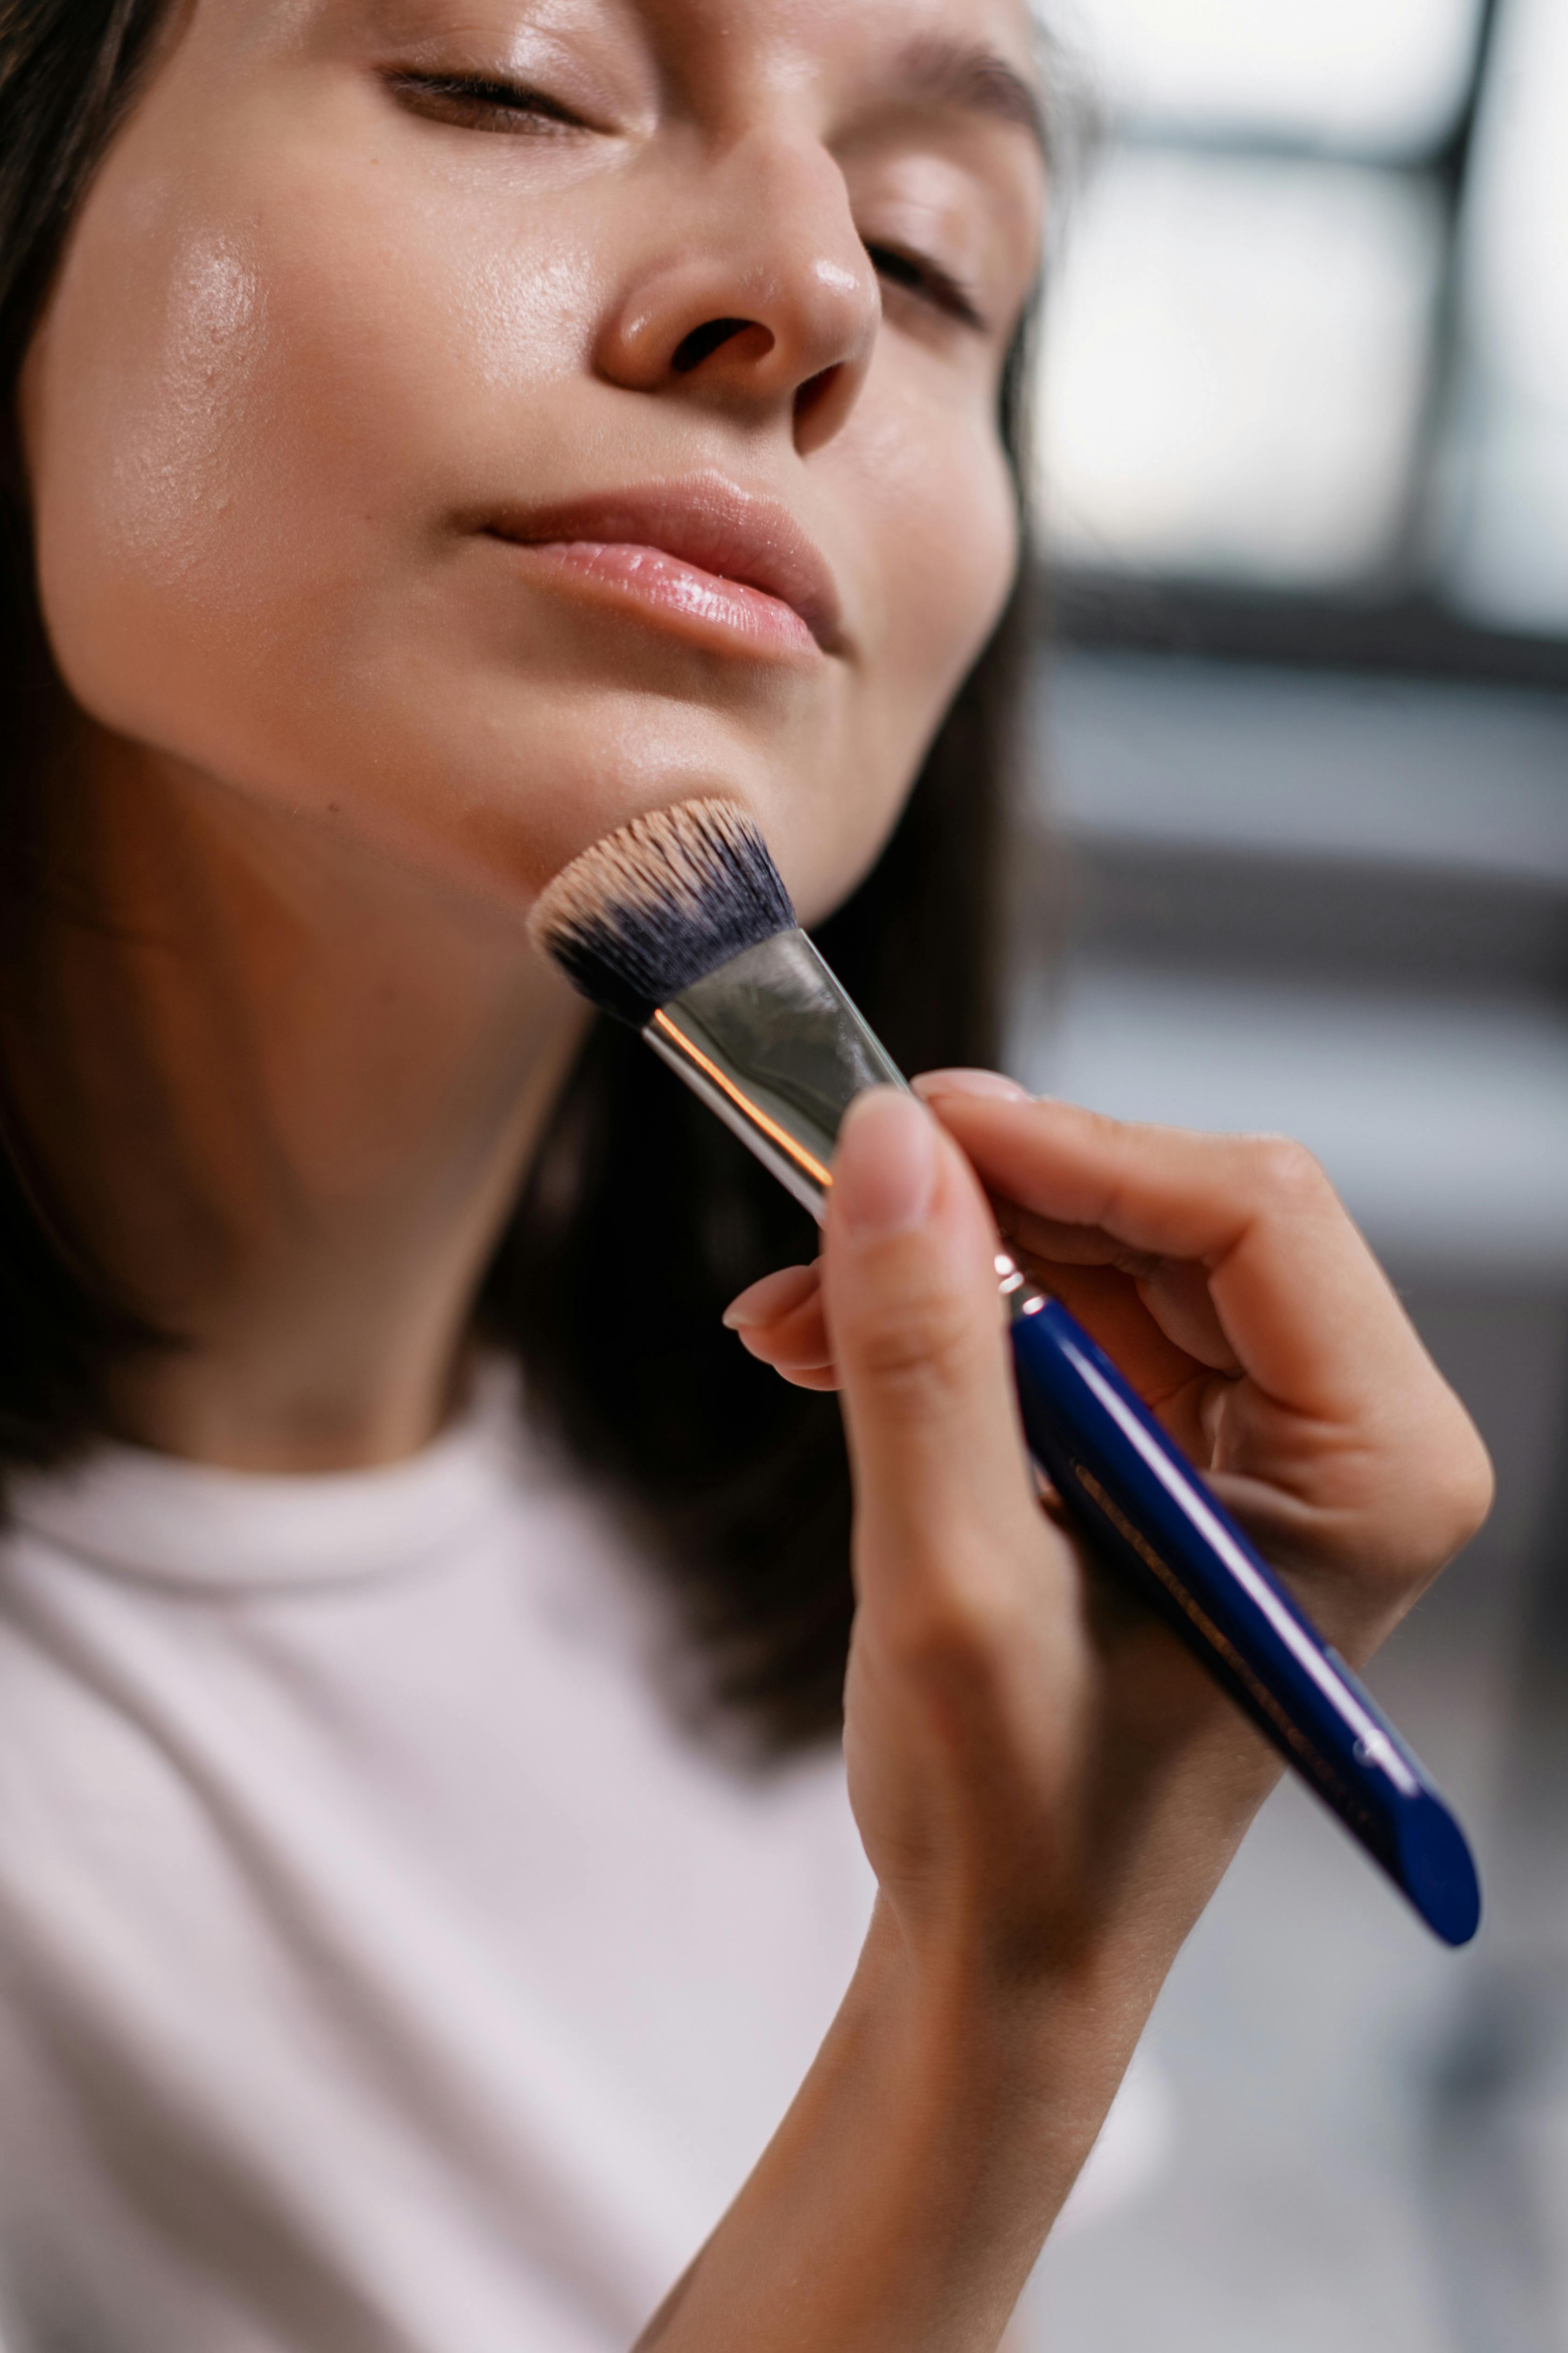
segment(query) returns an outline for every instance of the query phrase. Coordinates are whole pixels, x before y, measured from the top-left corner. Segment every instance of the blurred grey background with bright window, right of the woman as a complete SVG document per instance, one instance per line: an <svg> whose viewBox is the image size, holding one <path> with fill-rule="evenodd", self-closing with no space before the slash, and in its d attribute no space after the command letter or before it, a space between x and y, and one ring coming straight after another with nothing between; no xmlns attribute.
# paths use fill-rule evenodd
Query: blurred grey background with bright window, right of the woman
<svg viewBox="0 0 1568 2353"><path fill-rule="evenodd" d="M1013 1068L1302 1136L1500 1501L1371 1678L1481 1939L1281 1791L1020 2344L1568 2353L1568 0L1048 21L1107 136L1048 304Z"/></svg>

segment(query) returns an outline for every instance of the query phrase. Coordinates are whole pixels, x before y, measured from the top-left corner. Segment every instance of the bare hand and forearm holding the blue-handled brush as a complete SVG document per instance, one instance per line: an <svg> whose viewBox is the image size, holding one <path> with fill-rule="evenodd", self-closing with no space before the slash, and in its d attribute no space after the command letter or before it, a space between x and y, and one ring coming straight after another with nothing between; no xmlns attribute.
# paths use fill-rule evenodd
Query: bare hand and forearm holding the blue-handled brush
<svg viewBox="0 0 1568 2353"><path fill-rule="evenodd" d="M1490 1497L1331 1188L1267 1141L943 1096L1018 1247L1363 1657ZM1274 1762L1041 1515L969 1160L851 1115L820 1280L745 1304L856 1471L844 2007L644 2353L992 2353Z"/></svg>

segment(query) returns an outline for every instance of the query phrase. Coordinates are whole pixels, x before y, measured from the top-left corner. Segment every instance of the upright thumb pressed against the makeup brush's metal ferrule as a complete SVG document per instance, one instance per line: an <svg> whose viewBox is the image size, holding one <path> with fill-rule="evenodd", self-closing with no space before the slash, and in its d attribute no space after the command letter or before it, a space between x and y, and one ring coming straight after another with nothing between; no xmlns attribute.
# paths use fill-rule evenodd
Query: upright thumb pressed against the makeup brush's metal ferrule
<svg viewBox="0 0 1568 2353"><path fill-rule="evenodd" d="M839 1132L823 1301L856 1471L863 1574L978 1567L987 1537L1039 1544L997 1292L997 1228L931 1113L860 1094Z"/></svg>

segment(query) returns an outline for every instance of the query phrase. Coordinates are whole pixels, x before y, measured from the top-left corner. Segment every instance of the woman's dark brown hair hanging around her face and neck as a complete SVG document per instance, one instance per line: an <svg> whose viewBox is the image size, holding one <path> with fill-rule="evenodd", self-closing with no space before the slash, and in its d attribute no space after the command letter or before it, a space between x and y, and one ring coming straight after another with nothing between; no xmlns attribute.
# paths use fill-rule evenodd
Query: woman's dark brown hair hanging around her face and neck
<svg viewBox="0 0 1568 2353"><path fill-rule="evenodd" d="M16 372L71 216L134 94L167 0L0 0L0 908L35 889L31 809L59 696L14 447ZM1001 435L1020 480L1020 329ZM820 929L830 962L912 1071L994 1061L1001 831L1027 584L936 736L905 814ZM7 1141L0 1120L0 1144ZM710 1689L773 1744L839 1718L851 1621L849 1468L832 1398L757 1367L719 1327L811 1226L628 1031L599 1021L480 1297L531 1412L637 1515L677 1584ZM52 1231L26 1139L0 1151L0 1466L103 1428L108 1355L139 1334Z"/></svg>

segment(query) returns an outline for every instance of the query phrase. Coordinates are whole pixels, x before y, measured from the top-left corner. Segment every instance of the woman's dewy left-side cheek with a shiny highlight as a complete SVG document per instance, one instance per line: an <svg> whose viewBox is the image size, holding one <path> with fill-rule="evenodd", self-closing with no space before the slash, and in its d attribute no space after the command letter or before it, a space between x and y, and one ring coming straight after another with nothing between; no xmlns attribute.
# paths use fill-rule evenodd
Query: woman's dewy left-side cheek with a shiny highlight
<svg viewBox="0 0 1568 2353"><path fill-rule="evenodd" d="M571 353L581 287L559 249L501 271L437 207L388 214L374 158L350 160L261 139L183 174L110 158L24 438L82 708L292 802L353 793L357 767L390 821L451 508L501 442L517 348Z"/></svg>

